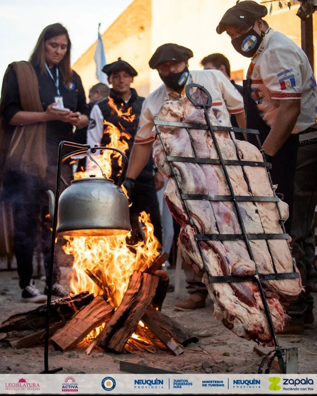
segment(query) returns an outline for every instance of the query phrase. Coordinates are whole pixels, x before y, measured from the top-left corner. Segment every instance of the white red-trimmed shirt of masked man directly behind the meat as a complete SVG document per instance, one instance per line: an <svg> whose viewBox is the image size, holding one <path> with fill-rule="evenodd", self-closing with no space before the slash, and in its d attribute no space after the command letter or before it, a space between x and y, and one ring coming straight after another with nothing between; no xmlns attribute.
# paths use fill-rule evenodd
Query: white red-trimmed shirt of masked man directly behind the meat
<svg viewBox="0 0 317 396"><path fill-rule="evenodd" d="M214 115L223 126L231 126L230 114L244 111L243 97L219 70L191 71L190 78L191 83L200 84L209 91L212 97ZM160 107L166 100L178 100L178 98L169 96L170 92L175 93L165 84L162 84L145 99L134 144L139 145L155 140L152 129Z"/></svg>

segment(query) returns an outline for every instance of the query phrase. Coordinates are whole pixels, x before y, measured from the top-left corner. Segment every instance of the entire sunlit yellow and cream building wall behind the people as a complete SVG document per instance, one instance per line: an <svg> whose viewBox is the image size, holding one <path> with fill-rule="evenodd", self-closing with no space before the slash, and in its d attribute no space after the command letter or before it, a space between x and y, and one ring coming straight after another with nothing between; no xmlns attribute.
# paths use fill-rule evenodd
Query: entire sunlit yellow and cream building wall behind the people
<svg viewBox="0 0 317 396"><path fill-rule="evenodd" d="M260 3L262 0L256 1ZM103 33L107 63L119 56L131 63L139 73L134 88L142 96L147 96L162 84L157 70L151 70L148 62L155 49L168 42L193 50L194 57L189 60L191 70L201 69L199 63L204 56L220 52L228 57L232 71L242 69L245 76L250 59L233 49L225 32L220 35L216 33L222 15L235 3L236 0L134 0ZM277 2L274 2L272 15L267 15L265 20L273 29L286 34L300 46L301 21L296 16L298 8L299 5L294 5L291 10L286 7L279 9ZM87 93L97 82L95 45L88 48L73 65L82 77Z"/></svg>

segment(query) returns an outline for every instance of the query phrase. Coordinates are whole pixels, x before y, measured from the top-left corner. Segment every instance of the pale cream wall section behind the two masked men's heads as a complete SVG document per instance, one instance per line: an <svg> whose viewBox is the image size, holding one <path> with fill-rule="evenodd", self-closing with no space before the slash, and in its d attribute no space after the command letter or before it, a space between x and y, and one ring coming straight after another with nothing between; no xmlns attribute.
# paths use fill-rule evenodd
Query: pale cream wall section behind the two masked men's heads
<svg viewBox="0 0 317 396"><path fill-rule="evenodd" d="M189 69L200 70L201 59L213 52L221 52L228 57L231 69L248 69L249 59L239 55L230 42L229 36L216 33L216 27L234 0L152 0L152 51L168 42L190 48L194 57L189 59ZM157 71L151 72L150 89L161 84Z"/></svg>

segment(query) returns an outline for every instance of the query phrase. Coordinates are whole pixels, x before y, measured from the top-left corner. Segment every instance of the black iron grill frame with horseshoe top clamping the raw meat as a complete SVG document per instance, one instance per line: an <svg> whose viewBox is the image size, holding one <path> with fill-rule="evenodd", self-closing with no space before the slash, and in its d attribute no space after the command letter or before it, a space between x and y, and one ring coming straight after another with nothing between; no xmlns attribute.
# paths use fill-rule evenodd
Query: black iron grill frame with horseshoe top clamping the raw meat
<svg viewBox="0 0 317 396"><path fill-rule="evenodd" d="M204 95L202 96L201 100L196 100L191 96L190 90L191 88L197 88L197 89L201 89L204 92ZM269 164L268 162L265 162L265 158L264 158L264 150L262 150L261 147L261 143L260 143L260 139L259 139L259 131L255 130L255 129L242 129L242 128L233 128L233 127L218 127L218 126L212 126L210 123L210 119L208 116L208 111L207 109L209 109L210 107L212 107L212 98L210 93L201 85L199 84L188 84L186 86L186 95L188 97L188 99L191 101L191 103L195 106L195 107L199 107L201 109L204 110L204 116L206 119L206 125L204 124L189 124L189 123L185 123L185 122L168 122L168 121L160 121L160 120L155 120L154 124L155 124L155 129L156 129L156 133L157 136L160 139L160 142L162 144L162 147L164 149L165 155L166 155L166 159L168 161L168 164L170 166L170 170L171 170L171 176L174 177L174 180L176 182L177 188L180 192L180 196L182 198L183 201L183 205L185 207L186 213L188 215L189 218L189 225L195 230L195 225L193 222L193 219L191 218L191 213L189 211L189 208L187 206L187 200L207 200L210 201L210 204L212 204L213 201L230 201L233 202L233 206L235 208L236 214L237 214L237 219L239 222L239 225L241 227L241 234L221 234L220 230L217 226L217 230L218 230L218 234L198 234L196 233L195 236L195 240L197 242L197 247L199 249L199 253L201 255L201 260L203 263L203 272L206 272L206 274L208 275L208 280L210 283L223 283L223 282L246 282L246 281L251 281L251 282L255 282L258 286L258 289L260 291L260 296L262 299L262 303L264 305L264 312L265 315L267 317L267 321L269 323L269 327L271 330L271 335L272 335L272 339L274 341L274 345L275 345L275 350L274 350L274 354L273 357L271 357L271 360L273 361L273 359L275 358L275 356L278 359L279 362L279 367L281 370L281 373L290 373L290 371L288 371L288 367L286 367L286 364L288 363L289 367L292 367L292 369L295 370L295 366L297 367L297 358L296 358L296 364L290 364L288 362L288 359L286 358L286 361L284 361L283 356L286 356L288 349L287 348L281 348L279 346L278 340L277 340L277 336L276 336L276 332L275 332L275 328L273 325L273 321L271 318L271 313L269 312L269 307L267 305L267 300L265 298L265 294L264 294L264 289L262 286L262 282L261 281L265 281L265 280L277 280L277 279L295 279L295 278L299 278L298 273L296 272L296 265L295 265L295 260L292 259L292 265L293 265L293 272L287 272L287 273L278 273L274 264L274 258L273 255L271 254L271 250L269 248L269 244L268 244L268 240L274 240L274 239L283 239L287 241L288 244L288 248L291 251L290 245L288 243L288 239L289 239L289 235L286 234L285 232L285 227L284 227L284 223L283 223L283 219L281 216L281 211L279 209L279 204L278 201L279 199L277 198L276 194L275 194L275 188L273 186L272 180L271 180L271 176L269 174L269 168L271 168L271 164ZM187 133L189 135L189 139L191 141L191 147L193 149L194 155L195 157L176 157L176 156L169 156L168 152L166 150L164 141L161 137L161 132L158 128L158 126L174 126L174 127L180 127L180 128L185 128L187 130ZM191 134L189 133L189 129L202 129L202 130L208 130L210 132L210 135L212 137L212 141L214 143L214 146L216 148L217 154L218 154L218 158L219 159L212 159L212 158L199 158L196 152L196 148L195 145L193 143L193 140L191 138ZM244 161L241 160L240 156L239 156L239 152L237 150L237 146L235 144L235 140L233 139L233 137L231 136L231 133L229 133L229 136L231 138L231 140L233 141L235 148L236 148L236 155L237 155L237 160L224 160L222 157L222 152L220 150L220 147L218 145L218 141L216 139L216 135L214 133L214 131L225 131L225 132L243 132L243 133L252 133L252 134L256 134L256 138L257 138L257 142L258 142L258 147L260 148L260 152L262 153L262 157L263 157L263 161L264 162L255 162L255 161ZM216 165L220 165L222 167L223 170L223 174L225 175L225 180L227 182L227 187L229 188L229 192L230 195L227 196L223 196L223 195L201 195L201 194L183 194L182 190L181 190L181 185L180 185L180 181L178 180L176 171L174 169L173 166L173 162L187 162L187 163L193 163L193 164L216 164ZM231 180L229 178L228 172L227 172L227 168L226 166L241 166L241 169L243 171L243 176L244 179L246 181L246 184L248 186L248 190L250 192L250 196L236 196L234 191L233 191L233 187L231 184ZM273 190L273 197L268 197L268 196L254 196L251 190L251 187L248 183L248 179L246 177L246 173L244 171L244 166L256 166L256 167L264 167L267 169L267 173L269 176L269 182L271 185L271 188ZM240 212L240 208L238 205L238 202L275 202L276 206L277 206L277 210L279 213L279 223L282 227L283 230L283 234L247 234L246 229L244 227L244 223L243 223L243 219L242 219L242 215ZM217 225L217 222L216 222ZM243 240L248 254L250 256L250 259L255 263L255 274L252 276L210 276L209 273L209 269L208 269L208 265L204 259L204 255L202 252L202 248L200 245L201 241L208 241L208 240L218 240L218 241L225 241L225 240ZM273 269L274 269L274 273L272 274L268 274L268 275L260 275L258 274L258 269L256 266L256 261L254 260L253 257L253 253L252 253L252 249L250 246L250 240L265 240L266 244L267 244L267 248L269 251L269 254L271 255L271 259L272 259L272 263L273 263ZM294 349L294 348L291 348ZM297 348L295 348L297 351ZM289 358L290 358L289 354ZM297 352L296 352L296 356L297 356ZM266 358L266 357L265 357ZM293 359L295 361L295 359ZM264 361L262 362L262 366L259 367L259 373L262 372L260 370L262 370L262 367L264 366ZM268 368L265 372L269 372L269 369L271 367L271 364L269 364ZM297 373L297 371L296 371Z"/></svg>

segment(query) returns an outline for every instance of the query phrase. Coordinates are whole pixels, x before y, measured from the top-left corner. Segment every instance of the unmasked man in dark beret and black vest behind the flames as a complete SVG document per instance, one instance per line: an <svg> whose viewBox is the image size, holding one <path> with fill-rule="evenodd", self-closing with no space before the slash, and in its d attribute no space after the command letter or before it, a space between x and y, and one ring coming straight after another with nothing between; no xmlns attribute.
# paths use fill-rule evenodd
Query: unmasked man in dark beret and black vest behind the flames
<svg viewBox="0 0 317 396"><path fill-rule="evenodd" d="M128 143L125 154L129 158L130 150L133 146L134 137L137 131L139 115L144 98L137 95L137 91L131 88L133 78L137 76L136 70L125 61L119 58L117 61L106 65L103 70L108 76L110 89L109 97L97 102L91 113L87 131L87 144L91 147L109 146L109 130L114 125L120 132L120 140ZM111 100L115 107L122 113L129 113L129 117L123 117L109 105ZM111 179L118 182L118 175L121 173L121 166L118 165L117 158L112 158ZM162 243L162 225L156 190L163 187L164 178L159 172L155 172L153 158L145 163L139 176L135 181L132 206L130 207L130 223L132 227L132 240L135 243L140 237L138 216L141 211L150 214L151 223L154 227L154 235Z"/></svg>

